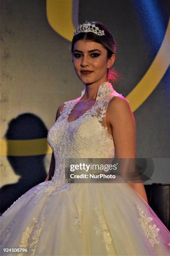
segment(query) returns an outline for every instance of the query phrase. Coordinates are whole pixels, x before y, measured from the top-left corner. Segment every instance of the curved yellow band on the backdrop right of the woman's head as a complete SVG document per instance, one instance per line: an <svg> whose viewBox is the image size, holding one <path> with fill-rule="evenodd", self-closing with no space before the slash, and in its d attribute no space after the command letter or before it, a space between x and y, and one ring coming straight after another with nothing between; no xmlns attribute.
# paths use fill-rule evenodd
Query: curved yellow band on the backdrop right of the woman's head
<svg viewBox="0 0 170 256"><path fill-rule="evenodd" d="M127 95L127 100L134 112L150 96L159 84L170 64L170 20L165 37L157 55L136 87Z"/></svg>

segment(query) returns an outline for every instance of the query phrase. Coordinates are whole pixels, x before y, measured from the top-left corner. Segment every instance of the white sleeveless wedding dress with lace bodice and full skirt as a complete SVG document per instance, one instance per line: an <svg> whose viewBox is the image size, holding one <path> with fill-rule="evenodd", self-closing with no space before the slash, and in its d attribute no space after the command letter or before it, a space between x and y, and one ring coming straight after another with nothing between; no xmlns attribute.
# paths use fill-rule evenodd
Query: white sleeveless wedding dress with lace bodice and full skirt
<svg viewBox="0 0 170 256"><path fill-rule="evenodd" d="M127 183L65 182L65 158L114 158L105 114L117 95L102 83L95 104L71 122L81 97L65 102L47 137L56 161L53 179L28 190L0 217L1 255L15 255L3 248L18 247L36 256L170 255L170 232Z"/></svg>

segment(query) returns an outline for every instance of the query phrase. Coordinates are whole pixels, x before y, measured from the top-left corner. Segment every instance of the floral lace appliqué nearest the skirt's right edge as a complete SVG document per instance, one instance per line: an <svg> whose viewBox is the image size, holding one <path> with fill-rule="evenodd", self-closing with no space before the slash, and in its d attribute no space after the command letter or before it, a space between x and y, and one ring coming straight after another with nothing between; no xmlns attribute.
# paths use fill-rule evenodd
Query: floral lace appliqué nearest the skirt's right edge
<svg viewBox="0 0 170 256"><path fill-rule="evenodd" d="M153 220L153 218L147 217L147 215L144 214L144 211L142 210L142 208L139 205L136 205L136 207L140 214L139 221L142 225L144 233L147 236L147 238L149 239L152 247L154 247L154 244L160 243L159 241L156 240L157 233L159 232L160 229L157 228L155 224L154 225L148 224Z"/></svg>

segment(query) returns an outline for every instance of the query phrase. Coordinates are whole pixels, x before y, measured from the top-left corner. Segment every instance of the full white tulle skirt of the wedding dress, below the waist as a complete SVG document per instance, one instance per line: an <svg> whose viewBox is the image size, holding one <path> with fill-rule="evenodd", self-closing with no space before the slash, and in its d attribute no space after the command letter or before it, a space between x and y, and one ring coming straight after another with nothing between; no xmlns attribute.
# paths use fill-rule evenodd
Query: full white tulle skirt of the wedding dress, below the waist
<svg viewBox="0 0 170 256"><path fill-rule="evenodd" d="M170 255L170 232L127 183L42 182L0 224L1 255L14 255L4 248L36 256Z"/></svg>

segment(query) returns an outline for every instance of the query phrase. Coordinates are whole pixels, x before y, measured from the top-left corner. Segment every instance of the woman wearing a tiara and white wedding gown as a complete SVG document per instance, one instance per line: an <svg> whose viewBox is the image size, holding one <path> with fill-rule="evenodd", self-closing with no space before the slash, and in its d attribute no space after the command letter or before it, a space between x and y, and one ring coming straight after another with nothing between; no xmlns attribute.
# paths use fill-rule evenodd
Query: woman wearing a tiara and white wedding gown
<svg viewBox="0 0 170 256"><path fill-rule="evenodd" d="M29 255L169 255L170 232L147 204L142 182L65 180L66 158L113 159L115 149L117 158L136 157L132 111L108 81L115 79L115 50L102 23L74 32L74 69L86 88L57 110L45 182L1 216L2 255L9 247L28 248Z"/></svg>

